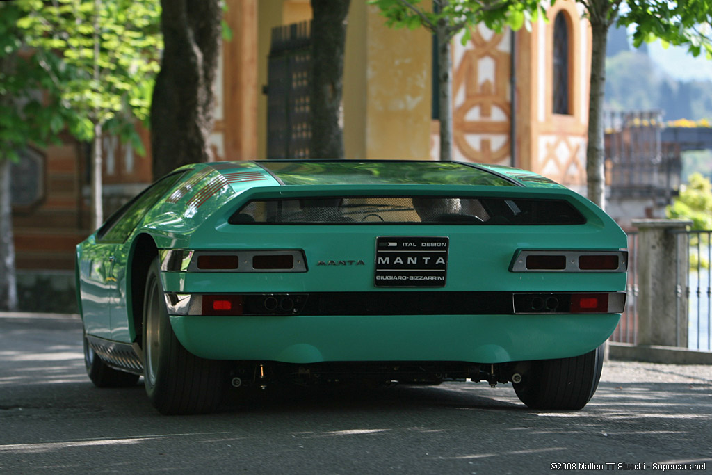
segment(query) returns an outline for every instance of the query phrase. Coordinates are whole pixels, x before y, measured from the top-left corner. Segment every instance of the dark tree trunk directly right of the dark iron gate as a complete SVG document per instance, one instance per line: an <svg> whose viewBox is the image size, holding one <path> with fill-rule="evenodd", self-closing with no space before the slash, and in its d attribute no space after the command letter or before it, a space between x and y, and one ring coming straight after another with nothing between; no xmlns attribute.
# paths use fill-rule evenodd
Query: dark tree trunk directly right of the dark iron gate
<svg viewBox="0 0 712 475"><path fill-rule="evenodd" d="M350 0L311 0L310 158L343 158L342 77Z"/></svg>

